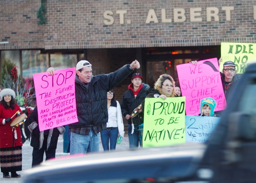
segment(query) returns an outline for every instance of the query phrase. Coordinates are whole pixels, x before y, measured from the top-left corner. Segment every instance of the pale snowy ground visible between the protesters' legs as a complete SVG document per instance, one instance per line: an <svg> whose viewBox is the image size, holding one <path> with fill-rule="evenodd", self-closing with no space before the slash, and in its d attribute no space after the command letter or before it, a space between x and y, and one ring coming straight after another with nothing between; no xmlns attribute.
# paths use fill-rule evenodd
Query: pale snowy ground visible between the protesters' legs
<svg viewBox="0 0 256 183"><path fill-rule="evenodd" d="M103 152L102 144L100 141L100 152ZM116 150L122 151L122 150L128 150L129 149L129 140L128 135L125 134L121 144L116 144ZM30 142L25 142L22 146L22 171L17 172L21 175L20 178L10 178L10 179L4 179L3 173L0 174L0 183L21 183L23 181L23 172L24 170L30 169L32 164L32 151L33 148L30 146ZM60 156L69 156L69 153L63 153L63 136L59 136L57 149L56 149L56 158ZM44 157L45 159L45 157Z"/></svg>

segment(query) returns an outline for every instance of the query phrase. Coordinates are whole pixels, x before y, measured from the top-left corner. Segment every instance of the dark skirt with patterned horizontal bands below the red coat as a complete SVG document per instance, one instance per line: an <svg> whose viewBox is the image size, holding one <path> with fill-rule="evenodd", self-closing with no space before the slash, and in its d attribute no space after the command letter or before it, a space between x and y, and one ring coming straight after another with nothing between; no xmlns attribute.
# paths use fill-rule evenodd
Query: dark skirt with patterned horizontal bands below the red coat
<svg viewBox="0 0 256 183"><path fill-rule="evenodd" d="M0 149L1 172L21 171L22 146Z"/></svg>

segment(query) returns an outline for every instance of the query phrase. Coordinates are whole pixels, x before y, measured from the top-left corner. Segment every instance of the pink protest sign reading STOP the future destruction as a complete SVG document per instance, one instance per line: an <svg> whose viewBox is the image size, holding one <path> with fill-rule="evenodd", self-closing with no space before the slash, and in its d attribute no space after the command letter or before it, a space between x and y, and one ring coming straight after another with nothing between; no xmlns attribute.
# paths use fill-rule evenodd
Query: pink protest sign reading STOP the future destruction
<svg viewBox="0 0 256 183"><path fill-rule="evenodd" d="M39 130L77 122L75 68L33 74Z"/></svg>

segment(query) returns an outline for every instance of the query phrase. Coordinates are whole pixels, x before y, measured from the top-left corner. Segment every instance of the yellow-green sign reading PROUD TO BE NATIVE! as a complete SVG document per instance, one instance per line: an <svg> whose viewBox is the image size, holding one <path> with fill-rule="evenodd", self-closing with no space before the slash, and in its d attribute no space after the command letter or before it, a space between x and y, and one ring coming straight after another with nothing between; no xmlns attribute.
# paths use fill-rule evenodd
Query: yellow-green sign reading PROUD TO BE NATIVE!
<svg viewBox="0 0 256 183"><path fill-rule="evenodd" d="M146 98L143 148L185 143L185 97Z"/></svg>

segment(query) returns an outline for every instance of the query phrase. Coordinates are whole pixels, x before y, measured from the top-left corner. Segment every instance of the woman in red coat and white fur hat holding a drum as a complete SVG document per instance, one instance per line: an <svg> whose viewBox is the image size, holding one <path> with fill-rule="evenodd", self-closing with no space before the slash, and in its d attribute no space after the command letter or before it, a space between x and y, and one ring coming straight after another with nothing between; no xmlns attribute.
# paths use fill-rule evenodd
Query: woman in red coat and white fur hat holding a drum
<svg viewBox="0 0 256 183"><path fill-rule="evenodd" d="M22 114L20 107L15 102L15 92L5 88L0 92L3 99L0 102L0 166L4 178L20 177L16 171L21 171L22 141L20 127L11 127L10 124L17 115ZM14 115L14 116L13 116ZM13 117L12 117L13 116ZM9 175L11 172L11 176Z"/></svg>

